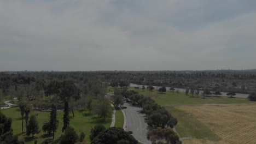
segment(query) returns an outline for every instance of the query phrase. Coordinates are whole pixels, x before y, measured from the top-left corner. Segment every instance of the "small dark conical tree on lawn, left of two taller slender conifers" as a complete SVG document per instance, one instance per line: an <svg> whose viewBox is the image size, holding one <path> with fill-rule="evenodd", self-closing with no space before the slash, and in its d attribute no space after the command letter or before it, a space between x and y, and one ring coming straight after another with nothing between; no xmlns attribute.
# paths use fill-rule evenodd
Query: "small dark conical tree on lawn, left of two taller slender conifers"
<svg viewBox="0 0 256 144"><path fill-rule="evenodd" d="M38 121L35 115L30 116L30 121L28 121L27 124L27 135L29 136L32 134L32 137L34 137L34 134L36 134L39 130Z"/></svg>

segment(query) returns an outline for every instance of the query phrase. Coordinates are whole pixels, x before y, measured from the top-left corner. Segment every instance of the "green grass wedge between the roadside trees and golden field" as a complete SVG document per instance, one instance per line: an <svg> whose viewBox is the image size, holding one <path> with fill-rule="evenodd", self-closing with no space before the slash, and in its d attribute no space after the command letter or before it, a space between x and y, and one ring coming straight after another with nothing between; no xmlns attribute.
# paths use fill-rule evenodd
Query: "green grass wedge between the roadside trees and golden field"
<svg viewBox="0 0 256 144"><path fill-rule="evenodd" d="M213 141L220 140L218 135L198 121L192 114L175 109L173 106L165 106L165 108L172 113L172 116L178 119L178 124L175 128L181 137L194 137L195 139Z"/></svg>

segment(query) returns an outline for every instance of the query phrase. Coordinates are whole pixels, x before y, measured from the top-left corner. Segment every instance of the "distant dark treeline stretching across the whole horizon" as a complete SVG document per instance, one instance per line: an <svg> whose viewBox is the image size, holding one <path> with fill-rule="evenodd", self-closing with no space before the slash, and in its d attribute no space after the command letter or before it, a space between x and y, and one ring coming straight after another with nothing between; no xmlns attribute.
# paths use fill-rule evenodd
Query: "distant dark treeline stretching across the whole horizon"
<svg viewBox="0 0 256 144"><path fill-rule="evenodd" d="M10 86L30 85L43 87L51 80L72 80L86 83L100 79L106 83L136 83L185 88L191 83L212 91L249 93L256 89L256 70L202 70L202 71L9 71L0 73L0 88L7 94Z"/></svg>

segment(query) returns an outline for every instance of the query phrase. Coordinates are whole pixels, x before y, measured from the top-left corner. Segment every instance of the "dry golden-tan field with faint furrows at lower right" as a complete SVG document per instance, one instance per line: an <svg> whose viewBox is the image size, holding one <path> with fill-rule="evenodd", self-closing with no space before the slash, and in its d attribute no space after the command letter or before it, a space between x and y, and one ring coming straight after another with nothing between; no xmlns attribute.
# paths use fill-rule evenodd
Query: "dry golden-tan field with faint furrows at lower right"
<svg viewBox="0 0 256 144"><path fill-rule="evenodd" d="M185 144L255 144L256 104L175 106L192 113L201 123L222 138L220 141L184 140Z"/></svg>

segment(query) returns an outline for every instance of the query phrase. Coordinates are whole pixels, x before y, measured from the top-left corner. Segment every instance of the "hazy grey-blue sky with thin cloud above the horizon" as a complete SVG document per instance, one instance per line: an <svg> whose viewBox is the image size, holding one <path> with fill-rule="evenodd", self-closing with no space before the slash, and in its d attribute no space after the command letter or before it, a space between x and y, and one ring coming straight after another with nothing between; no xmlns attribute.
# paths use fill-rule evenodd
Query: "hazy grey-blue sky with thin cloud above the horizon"
<svg viewBox="0 0 256 144"><path fill-rule="evenodd" d="M0 71L255 68L255 0L0 1Z"/></svg>

